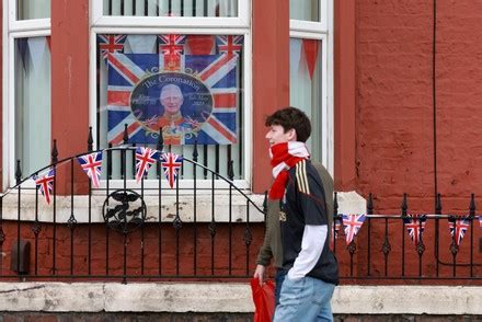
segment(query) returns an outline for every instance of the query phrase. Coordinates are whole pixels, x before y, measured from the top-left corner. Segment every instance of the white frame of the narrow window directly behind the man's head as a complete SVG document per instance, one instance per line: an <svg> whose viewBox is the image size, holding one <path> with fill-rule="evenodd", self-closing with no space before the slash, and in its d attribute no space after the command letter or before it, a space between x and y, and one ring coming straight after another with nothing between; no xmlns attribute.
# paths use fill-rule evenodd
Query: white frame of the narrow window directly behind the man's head
<svg viewBox="0 0 482 322"><path fill-rule="evenodd" d="M319 0L320 22L289 20L289 37L318 39L322 43L322 163L334 174L334 103L333 103L333 1Z"/></svg>

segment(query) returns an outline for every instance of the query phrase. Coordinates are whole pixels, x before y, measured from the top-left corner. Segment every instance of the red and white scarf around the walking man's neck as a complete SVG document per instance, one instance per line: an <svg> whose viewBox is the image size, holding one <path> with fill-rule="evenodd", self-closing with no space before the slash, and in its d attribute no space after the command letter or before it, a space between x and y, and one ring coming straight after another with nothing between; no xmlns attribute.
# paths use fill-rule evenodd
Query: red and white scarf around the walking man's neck
<svg viewBox="0 0 482 322"><path fill-rule="evenodd" d="M299 161L310 158L307 146L303 142L290 141L274 145L269 148L271 164L273 166L273 182L269 188L269 199L277 200L285 194L288 181L288 170Z"/></svg>

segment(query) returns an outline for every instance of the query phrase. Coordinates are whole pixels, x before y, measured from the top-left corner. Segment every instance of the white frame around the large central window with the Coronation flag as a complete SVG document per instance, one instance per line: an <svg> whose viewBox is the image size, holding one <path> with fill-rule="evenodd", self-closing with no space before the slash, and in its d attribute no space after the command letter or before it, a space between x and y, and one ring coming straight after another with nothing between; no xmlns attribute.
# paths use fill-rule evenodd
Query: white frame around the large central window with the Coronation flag
<svg viewBox="0 0 482 322"><path fill-rule="evenodd" d="M103 1L91 0L91 31L90 31L90 64L89 64L89 123L92 131L97 131L96 127L96 35L97 34L187 34L187 35L243 35L243 149L244 149L244 179L234 180L233 184L245 191L251 191L252 184L252 125L253 125L253 97L252 97L252 26L250 14L250 1L238 0L238 18L182 18L182 16L104 16ZM94 136L94 147L96 136ZM186 156L191 159L191 156ZM124 181L110 180L111 187L122 187ZM128 180L129 186L135 186L135 180ZM211 180L198 179L198 188L211 187ZM215 181L216 188L228 187L222 180ZM106 186L106 181L101 181L101 187ZM146 188L158 186L157 180L146 180ZM192 180L181 180L180 188L192 188Z"/></svg>

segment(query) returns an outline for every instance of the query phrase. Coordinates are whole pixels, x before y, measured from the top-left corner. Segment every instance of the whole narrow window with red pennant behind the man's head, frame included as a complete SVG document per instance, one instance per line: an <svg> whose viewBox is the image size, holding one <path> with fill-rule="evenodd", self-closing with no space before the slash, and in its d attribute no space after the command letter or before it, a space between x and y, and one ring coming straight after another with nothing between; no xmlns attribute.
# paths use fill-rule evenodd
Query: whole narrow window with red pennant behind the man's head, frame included
<svg viewBox="0 0 482 322"><path fill-rule="evenodd" d="M311 119L312 159L333 173L331 0L290 0L290 105Z"/></svg>

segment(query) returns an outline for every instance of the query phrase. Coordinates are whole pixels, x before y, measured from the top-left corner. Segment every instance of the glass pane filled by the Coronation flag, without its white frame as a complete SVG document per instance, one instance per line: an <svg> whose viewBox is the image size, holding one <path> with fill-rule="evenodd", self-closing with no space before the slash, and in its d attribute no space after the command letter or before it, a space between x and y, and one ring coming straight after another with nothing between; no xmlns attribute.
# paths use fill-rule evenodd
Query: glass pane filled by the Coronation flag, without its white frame
<svg viewBox="0 0 482 322"><path fill-rule="evenodd" d="M126 124L129 143L156 147L162 128L164 150L192 159L197 142L199 163L227 175L232 160L234 179L243 177L243 43L239 35L99 34L100 148L120 145ZM190 166L183 179L193 177Z"/></svg>

